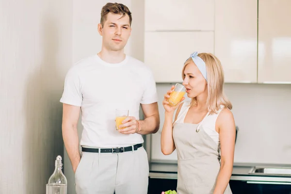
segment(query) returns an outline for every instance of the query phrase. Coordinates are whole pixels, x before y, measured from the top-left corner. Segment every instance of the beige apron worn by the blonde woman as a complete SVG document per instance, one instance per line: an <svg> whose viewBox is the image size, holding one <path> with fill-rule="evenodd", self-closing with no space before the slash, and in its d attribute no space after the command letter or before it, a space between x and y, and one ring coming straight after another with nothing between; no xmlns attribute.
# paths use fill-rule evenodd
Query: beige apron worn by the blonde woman
<svg viewBox="0 0 291 194"><path fill-rule="evenodd" d="M220 150L201 124L175 123L178 154L178 194L213 194L220 170ZM229 184L225 194L232 194Z"/></svg>

